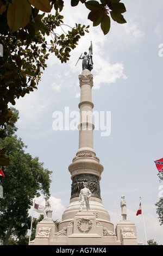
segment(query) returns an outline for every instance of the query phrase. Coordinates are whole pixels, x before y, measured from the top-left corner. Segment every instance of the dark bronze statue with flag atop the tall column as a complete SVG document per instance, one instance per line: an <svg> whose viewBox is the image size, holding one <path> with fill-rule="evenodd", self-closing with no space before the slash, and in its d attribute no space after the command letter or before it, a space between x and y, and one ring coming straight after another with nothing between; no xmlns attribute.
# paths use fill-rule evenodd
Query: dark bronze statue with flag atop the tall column
<svg viewBox="0 0 163 256"><path fill-rule="evenodd" d="M83 59L83 62L82 62L83 70L88 69L91 71L93 69L92 54L93 54L93 52L92 52L92 41L91 41L91 45L89 47L89 53L87 54L87 52L84 52L84 54L81 54L81 56L79 57L79 59ZM78 61L79 61L79 59L78 59ZM77 61L77 63L78 63L78 61Z"/></svg>

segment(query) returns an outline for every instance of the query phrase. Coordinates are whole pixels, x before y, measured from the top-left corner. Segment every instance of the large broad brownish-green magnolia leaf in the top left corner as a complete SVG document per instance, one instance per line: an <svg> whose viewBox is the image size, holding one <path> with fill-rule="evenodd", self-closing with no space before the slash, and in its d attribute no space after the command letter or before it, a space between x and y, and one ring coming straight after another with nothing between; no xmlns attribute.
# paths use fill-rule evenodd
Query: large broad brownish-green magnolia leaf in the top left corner
<svg viewBox="0 0 163 256"><path fill-rule="evenodd" d="M32 7L27 0L12 0L7 10L7 22L11 33L25 27L30 19Z"/></svg>

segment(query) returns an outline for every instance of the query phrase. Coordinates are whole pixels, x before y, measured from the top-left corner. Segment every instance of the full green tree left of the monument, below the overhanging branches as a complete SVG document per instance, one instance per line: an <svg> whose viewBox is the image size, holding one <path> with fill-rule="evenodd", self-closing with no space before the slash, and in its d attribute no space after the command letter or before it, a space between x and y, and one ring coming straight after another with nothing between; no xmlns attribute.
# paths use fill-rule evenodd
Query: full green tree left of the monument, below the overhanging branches
<svg viewBox="0 0 163 256"><path fill-rule="evenodd" d="M12 109L15 116L18 112ZM13 130L11 130L13 127ZM40 193L49 194L50 172L43 168L38 157L25 153L27 148L21 138L17 138L15 123L7 127L8 136L0 141L0 148L6 148L6 155L11 163L3 168L0 176L3 186L3 198L0 204L0 240L8 244L10 237L23 237L30 229L31 217L28 210L33 205L33 198Z"/></svg>

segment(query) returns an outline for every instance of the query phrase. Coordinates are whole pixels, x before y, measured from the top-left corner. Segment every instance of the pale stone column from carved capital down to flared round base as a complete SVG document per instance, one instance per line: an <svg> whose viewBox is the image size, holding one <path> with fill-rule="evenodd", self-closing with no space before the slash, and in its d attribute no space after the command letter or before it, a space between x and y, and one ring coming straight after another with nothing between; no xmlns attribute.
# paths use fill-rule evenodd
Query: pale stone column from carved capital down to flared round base
<svg viewBox="0 0 163 256"><path fill-rule="evenodd" d="M95 214L97 221L104 223L108 230L114 231L114 225L110 222L110 215L105 210L101 199L101 188L99 181L103 172L103 166L99 163L99 158L96 156L93 149L93 120L92 120L92 87L93 75L89 70L83 70L79 75L80 86L80 123L79 129L79 149L72 163L68 167L71 173L71 198L70 204L62 215L62 222L59 225L59 230L62 230L70 223L74 215L80 210L79 193L83 188L83 182L87 182L92 193L90 197L90 211Z"/></svg>

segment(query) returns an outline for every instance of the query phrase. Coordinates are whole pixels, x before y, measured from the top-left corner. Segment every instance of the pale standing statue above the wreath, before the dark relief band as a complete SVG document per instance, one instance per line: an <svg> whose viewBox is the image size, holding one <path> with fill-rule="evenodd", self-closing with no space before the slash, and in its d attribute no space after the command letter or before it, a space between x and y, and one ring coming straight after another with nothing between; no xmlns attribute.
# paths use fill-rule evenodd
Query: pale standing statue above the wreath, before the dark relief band
<svg viewBox="0 0 163 256"><path fill-rule="evenodd" d="M84 182L83 186L84 188L80 190L80 194L79 194L80 211L83 210L84 202L86 205L86 210L89 211L90 210L89 198L92 196L92 193L89 190L89 188L87 188L87 182Z"/></svg>

